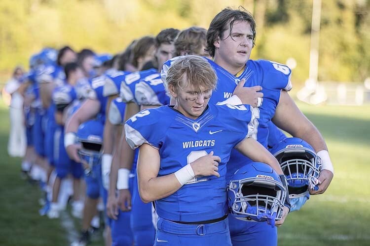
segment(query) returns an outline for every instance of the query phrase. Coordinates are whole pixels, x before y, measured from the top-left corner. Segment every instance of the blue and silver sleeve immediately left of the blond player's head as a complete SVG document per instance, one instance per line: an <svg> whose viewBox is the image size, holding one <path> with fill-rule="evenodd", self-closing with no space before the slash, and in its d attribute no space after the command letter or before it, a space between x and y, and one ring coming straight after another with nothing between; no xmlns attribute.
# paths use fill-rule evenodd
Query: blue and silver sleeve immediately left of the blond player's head
<svg viewBox="0 0 370 246"><path fill-rule="evenodd" d="M153 73L136 84L135 101L139 105L170 104L170 97L166 94L160 73Z"/></svg>

